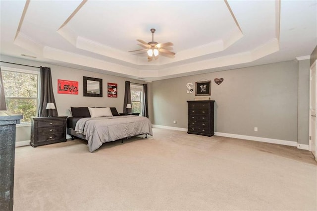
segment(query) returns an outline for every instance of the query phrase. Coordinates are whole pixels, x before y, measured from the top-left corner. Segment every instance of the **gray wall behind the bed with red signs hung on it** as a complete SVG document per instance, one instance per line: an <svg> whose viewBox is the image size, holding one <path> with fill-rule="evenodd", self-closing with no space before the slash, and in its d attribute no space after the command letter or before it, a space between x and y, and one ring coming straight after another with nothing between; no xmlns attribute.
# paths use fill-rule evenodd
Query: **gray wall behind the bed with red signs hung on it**
<svg viewBox="0 0 317 211"><path fill-rule="evenodd" d="M79 70L74 68L68 68L48 63L36 62L27 59L19 59L10 56L1 55L1 61L7 61L12 63L26 64L32 66L47 66L51 67L52 72L52 83L54 90L54 97L56 101L56 107L58 115L70 116L70 106L108 106L116 107L118 112L123 111L123 101L124 101L124 89L125 81L131 81L135 83L144 83L143 81L128 79L123 77L117 77L112 75L106 75L96 72L90 72L85 70ZM13 67L19 69L29 69L40 71L39 68L26 67L21 65L14 65L1 62L1 66ZM83 97L83 76L102 78L103 79L103 97ZM66 95L57 94L57 79L78 81L79 94L78 95ZM107 83L117 83L118 84L118 97L108 98L107 97ZM17 127L16 141L26 141L30 140L30 126L28 127Z"/></svg>

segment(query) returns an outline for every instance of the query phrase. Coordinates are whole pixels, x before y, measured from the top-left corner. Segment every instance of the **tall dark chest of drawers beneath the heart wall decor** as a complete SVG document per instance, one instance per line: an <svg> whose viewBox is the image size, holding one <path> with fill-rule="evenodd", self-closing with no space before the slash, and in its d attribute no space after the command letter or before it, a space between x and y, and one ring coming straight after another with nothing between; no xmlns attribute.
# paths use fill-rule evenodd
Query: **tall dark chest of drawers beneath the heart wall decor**
<svg viewBox="0 0 317 211"><path fill-rule="evenodd" d="M214 101L187 101L188 131L187 133L212 136Z"/></svg>

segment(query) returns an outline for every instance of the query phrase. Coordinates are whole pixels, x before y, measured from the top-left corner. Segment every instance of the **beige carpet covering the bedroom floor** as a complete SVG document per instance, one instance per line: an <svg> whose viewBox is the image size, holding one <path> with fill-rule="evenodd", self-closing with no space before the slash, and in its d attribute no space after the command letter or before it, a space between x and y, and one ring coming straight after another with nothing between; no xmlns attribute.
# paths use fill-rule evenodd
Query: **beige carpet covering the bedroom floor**
<svg viewBox="0 0 317 211"><path fill-rule="evenodd" d="M294 147L154 128L154 137L16 148L14 211L317 210L317 164Z"/></svg>

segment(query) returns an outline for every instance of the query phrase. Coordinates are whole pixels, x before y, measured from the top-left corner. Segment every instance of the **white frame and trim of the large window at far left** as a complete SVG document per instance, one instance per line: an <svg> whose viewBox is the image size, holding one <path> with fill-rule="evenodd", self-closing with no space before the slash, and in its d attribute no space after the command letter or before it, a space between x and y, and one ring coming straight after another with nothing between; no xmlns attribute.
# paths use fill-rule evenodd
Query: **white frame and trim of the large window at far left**
<svg viewBox="0 0 317 211"><path fill-rule="evenodd" d="M38 77L38 80L37 80L37 98L36 98L36 101L37 101L37 108L36 108L36 115L37 115L37 112L38 112L38 109L39 109L39 100L40 100L40 71L38 70L26 70L26 69L20 69L20 68L13 68L13 67L6 67L6 66L1 66L1 71L7 71L7 72L20 72L20 73L28 73L28 74L35 74L37 75ZM4 88L5 89L5 88ZM31 100L34 100L35 97L33 98L23 98L23 97L5 97L5 99L31 99ZM16 126L17 127L21 127L21 126L29 126L31 125L31 122L22 122L20 124L17 124Z"/></svg>

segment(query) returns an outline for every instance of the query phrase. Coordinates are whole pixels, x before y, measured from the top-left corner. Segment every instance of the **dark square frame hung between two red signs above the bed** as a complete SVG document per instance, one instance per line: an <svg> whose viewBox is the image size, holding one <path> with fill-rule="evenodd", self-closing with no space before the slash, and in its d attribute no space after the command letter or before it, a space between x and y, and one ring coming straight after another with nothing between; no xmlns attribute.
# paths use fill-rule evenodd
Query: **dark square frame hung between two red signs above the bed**
<svg viewBox="0 0 317 211"><path fill-rule="evenodd" d="M84 96L103 97L103 79L84 76L83 86Z"/></svg>

